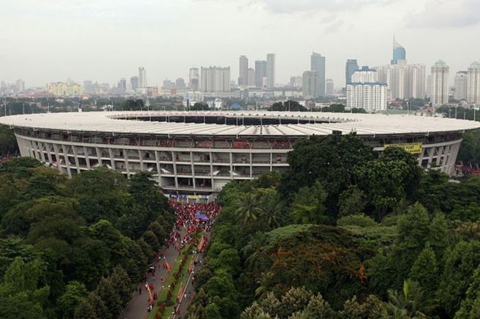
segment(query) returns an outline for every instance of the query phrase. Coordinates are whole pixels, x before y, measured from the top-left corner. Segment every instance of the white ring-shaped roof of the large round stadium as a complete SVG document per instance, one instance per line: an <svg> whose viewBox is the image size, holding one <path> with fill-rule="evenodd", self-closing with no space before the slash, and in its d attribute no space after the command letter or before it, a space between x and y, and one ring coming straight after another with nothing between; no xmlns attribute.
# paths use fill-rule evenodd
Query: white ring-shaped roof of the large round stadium
<svg viewBox="0 0 480 319"><path fill-rule="evenodd" d="M300 119L310 123L276 125L226 125L208 123L176 123L159 121L134 121L116 117L228 117L230 119ZM322 121L322 123L316 123ZM328 123L331 121L331 123ZM10 127L65 130L69 132L105 132L126 134L169 134L196 136L309 136L326 135L333 131L344 134L357 132L359 135L411 134L433 132L461 132L480 128L478 121L421 117L416 115L380 115L351 113L310 112L83 112L83 113L40 113L0 117L0 123ZM239 123L242 123L240 120Z"/></svg>

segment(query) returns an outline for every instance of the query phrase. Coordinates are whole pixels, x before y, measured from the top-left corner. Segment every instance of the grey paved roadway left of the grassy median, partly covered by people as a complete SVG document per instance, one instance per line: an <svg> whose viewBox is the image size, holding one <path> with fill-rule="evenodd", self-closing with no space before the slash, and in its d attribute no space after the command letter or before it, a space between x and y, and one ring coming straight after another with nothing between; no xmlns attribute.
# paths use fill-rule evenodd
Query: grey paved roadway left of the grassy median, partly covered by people
<svg viewBox="0 0 480 319"><path fill-rule="evenodd" d="M167 258L167 261L173 267L173 264L175 263L176 258L178 257L178 251L175 249L175 247L171 245L170 248L166 250L164 249L163 255ZM157 264L158 264L158 261L156 262L156 265ZM160 277L163 277L163 281L165 282L165 279L167 279L166 269L157 268L155 272L155 280L153 279L152 274L148 273L147 283L154 284L154 292L158 292L160 290L159 289ZM141 287L141 292L142 292L141 294L139 294L139 287ZM149 312L147 311L147 307L148 307L147 288L145 288L145 285L143 283L139 284L139 287L136 288L136 292L132 296L132 300L130 300L130 303L128 304L127 309L125 309L125 312L120 317L121 319L124 319L124 318L125 319L143 319L149 314Z"/></svg>

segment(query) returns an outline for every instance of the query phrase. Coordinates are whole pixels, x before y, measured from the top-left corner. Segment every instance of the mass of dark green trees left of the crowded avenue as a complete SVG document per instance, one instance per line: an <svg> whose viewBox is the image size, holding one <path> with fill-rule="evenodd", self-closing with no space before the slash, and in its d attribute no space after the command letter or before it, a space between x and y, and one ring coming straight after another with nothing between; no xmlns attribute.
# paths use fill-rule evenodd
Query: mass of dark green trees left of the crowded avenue
<svg viewBox="0 0 480 319"><path fill-rule="evenodd" d="M174 221L147 172L2 163L0 318L118 318Z"/></svg>

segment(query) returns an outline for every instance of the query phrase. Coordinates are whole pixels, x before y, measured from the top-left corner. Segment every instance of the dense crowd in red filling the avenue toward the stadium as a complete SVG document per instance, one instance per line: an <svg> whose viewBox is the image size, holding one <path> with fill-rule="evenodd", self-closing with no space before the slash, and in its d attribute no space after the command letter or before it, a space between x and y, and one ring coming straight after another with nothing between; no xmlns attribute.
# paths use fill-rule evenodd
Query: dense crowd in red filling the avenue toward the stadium
<svg viewBox="0 0 480 319"><path fill-rule="evenodd" d="M175 210L176 223L173 226L169 237L165 239L165 248L157 254L157 267L155 267L155 265L150 265L149 267L148 272L152 274L153 281L155 281L156 268L167 269L167 272L171 271L171 266L169 265L167 258L164 256L164 251L173 246L178 252L180 252L184 246L193 240L193 235L198 230L202 231L203 237L200 239L200 243L195 251L200 253L204 250L213 221L221 211L221 206L215 203L185 203L176 200L169 200L169 205ZM197 265L197 260L195 260L195 265ZM193 273L193 268L192 270L189 268L189 272ZM160 277L160 285L162 284L163 277ZM147 309L148 311L151 311L158 298L158 293L154 292L154 283L147 283L147 274L145 274L143 278L143 285L149 294ZM139 294L141 294L141 290L142 288L139 287ZM175 311L180 311L180 302L181 298L180 300L177 300Z"/></svg>

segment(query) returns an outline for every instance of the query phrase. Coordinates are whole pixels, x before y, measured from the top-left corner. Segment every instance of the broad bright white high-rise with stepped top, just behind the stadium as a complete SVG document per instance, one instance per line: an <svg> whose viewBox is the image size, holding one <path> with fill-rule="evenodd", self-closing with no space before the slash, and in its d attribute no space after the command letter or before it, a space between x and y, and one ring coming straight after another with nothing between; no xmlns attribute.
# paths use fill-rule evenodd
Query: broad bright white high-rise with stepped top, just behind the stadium
<svg viewBox="0 0 480 319"><path fill-rule="evenodd" d="M352 74L352 83L347 85L347 108L387 109L387 84L378 82L374 69L362 67Z"/></svg>

